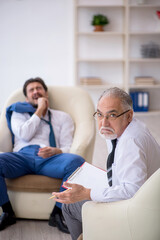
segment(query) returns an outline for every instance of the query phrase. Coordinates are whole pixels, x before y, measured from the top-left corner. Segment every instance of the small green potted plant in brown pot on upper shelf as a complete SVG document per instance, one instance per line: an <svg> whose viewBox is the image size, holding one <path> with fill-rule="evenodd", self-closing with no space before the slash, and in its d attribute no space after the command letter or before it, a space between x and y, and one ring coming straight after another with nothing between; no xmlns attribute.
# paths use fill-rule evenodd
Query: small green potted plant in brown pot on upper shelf
<svg viewBox="0 0 160 240"><path fill-rule="evenodd" d="M102 14L94 15L91 24L94 26L94 31L104 31L103 26L108 24L109 20Z"/></svg>

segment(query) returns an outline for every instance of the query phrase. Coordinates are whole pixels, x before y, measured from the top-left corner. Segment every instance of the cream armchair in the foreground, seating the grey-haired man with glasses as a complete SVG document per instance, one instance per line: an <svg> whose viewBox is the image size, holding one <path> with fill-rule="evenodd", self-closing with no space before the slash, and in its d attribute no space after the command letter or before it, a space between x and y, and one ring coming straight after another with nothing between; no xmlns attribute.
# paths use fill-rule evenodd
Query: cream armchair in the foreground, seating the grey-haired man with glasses
<svg viewBox="0 0 160 240"><path fill-rule="evenodd" d="M82 208L83 240L159 240L160 169L131 199L86 202Z"/></svg>

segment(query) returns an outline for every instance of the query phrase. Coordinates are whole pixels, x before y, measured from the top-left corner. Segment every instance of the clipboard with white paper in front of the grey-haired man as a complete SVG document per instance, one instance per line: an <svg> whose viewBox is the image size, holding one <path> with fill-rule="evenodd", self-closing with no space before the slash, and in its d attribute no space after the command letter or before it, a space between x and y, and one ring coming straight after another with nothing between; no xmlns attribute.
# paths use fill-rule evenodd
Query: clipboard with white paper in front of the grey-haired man
<svg viewBox="0 0 160 240"><path fill-rule="evenodd" d="M89 189L109 187L107 172L87 162L77 168L66 182L79 184Z"/></svg>

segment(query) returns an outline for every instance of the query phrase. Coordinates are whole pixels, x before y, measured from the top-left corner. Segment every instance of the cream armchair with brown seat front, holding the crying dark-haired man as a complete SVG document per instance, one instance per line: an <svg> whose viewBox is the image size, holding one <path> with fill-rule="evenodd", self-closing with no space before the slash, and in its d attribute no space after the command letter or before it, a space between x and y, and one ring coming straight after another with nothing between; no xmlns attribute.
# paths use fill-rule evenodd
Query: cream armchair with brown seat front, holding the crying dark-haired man
<svg viewBox="0 0 160 240"><path fill-rule="evenodd" d="M70 114L75 123L71 153L92 162L95 141L94 106L88 93L78 87L49 86L50 108ZM17 101L25 101L22 89L16 90L7 100L0 116L0 151L11 152L11 133L5 118L6 107ZM61 179L46 176L26 175L6 179L8 194L15 214L19 218L48 219L54 206L48 200L52 191L59 191Z"/></svg>

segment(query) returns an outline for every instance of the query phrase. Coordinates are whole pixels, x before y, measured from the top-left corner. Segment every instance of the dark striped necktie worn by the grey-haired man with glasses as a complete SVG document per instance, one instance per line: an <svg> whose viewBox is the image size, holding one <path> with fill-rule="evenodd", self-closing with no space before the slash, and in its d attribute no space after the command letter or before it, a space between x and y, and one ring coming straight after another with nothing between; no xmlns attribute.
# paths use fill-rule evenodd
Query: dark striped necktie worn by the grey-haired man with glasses
<svg viewBox="0 0 160 240"><path fill-rule="evenodd" d="M112 186L112 164L114 162L114 152L116 148L117 139L111 140L112 142L112 152L108 155L107 159L107 176L108 176L108 184Z"/></svg>

